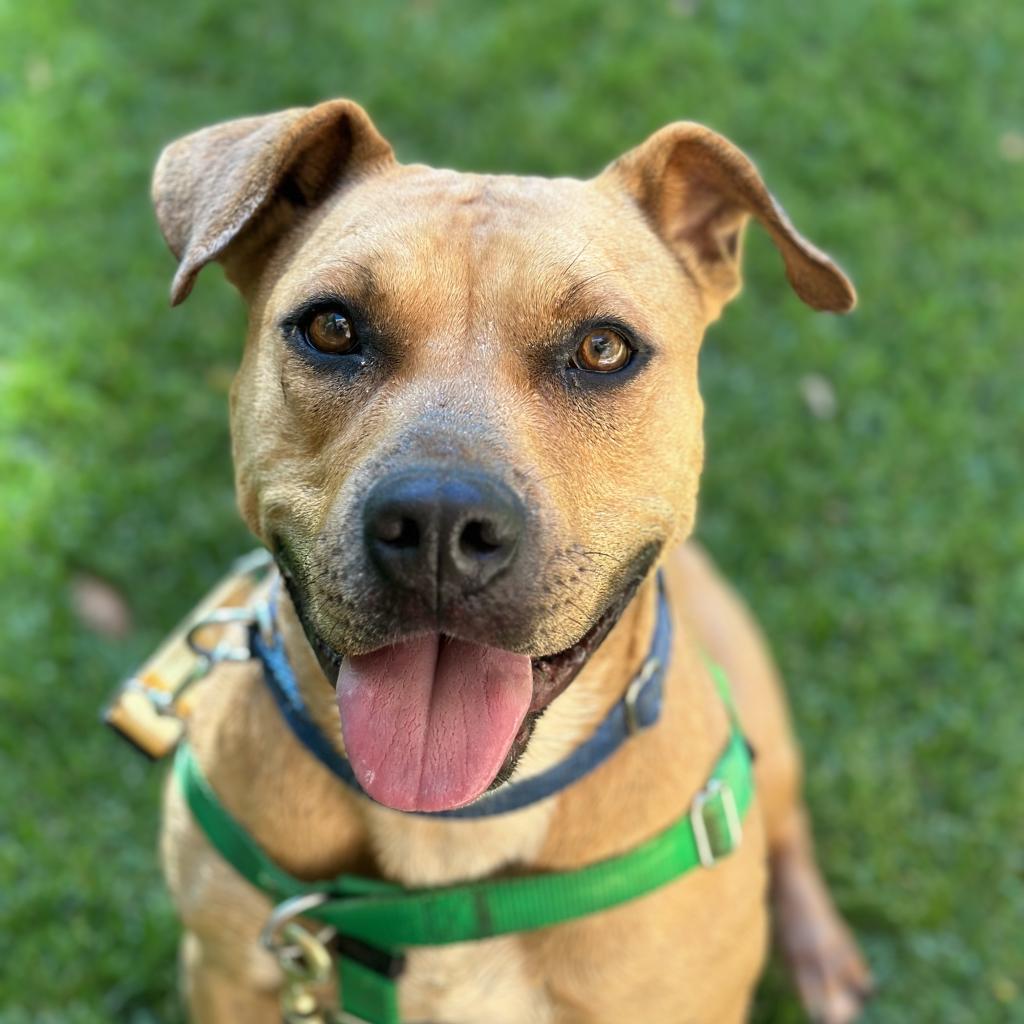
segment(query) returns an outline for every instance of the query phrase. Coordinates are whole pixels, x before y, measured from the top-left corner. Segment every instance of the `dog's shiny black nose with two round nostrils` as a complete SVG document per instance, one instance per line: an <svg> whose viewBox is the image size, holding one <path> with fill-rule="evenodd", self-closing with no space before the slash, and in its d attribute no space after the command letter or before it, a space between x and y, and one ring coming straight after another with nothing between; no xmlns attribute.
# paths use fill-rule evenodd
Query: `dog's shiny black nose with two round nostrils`
<svg viewBox="0 0 1024 1024"><path fill-rule="evenodd" d="M471 594L512 564L525 516L500 480L424 467L374 484L362 521L384 578L435 607L438 597Z"/></svg>

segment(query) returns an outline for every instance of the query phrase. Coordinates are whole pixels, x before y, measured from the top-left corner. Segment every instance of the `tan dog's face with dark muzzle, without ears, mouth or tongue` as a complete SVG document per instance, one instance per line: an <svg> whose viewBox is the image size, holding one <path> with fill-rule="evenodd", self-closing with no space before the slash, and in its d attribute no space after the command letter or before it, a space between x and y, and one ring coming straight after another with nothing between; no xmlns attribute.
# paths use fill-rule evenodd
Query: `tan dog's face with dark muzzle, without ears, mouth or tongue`
<svg viewBox="0 0 1024 1024"><path fill-rule="evenodd" d="M232 425L246 516L332 648L552 654L689 528L699 296L649 241L593 184L399 167L297 232ZM434 532L420 500L453 522L375 535Z"/></svg>

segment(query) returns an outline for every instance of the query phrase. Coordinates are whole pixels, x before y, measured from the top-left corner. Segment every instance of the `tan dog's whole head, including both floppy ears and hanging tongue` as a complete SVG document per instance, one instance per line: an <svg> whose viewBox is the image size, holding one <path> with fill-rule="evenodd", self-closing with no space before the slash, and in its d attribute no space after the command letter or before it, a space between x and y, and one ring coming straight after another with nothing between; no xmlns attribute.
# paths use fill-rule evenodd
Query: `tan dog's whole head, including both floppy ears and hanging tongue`
<svg viewBox="0 0 1024 1024"><path fill-rule="evenodd" d="M175 299L220 258L249 302L240 504L338 677L360 781L403 809L507 774L691 529L697 352L748 217L810 304L853 301L695 125L591 181L481 176L397 164L336 101L188 136L155 196Z"/></svg>

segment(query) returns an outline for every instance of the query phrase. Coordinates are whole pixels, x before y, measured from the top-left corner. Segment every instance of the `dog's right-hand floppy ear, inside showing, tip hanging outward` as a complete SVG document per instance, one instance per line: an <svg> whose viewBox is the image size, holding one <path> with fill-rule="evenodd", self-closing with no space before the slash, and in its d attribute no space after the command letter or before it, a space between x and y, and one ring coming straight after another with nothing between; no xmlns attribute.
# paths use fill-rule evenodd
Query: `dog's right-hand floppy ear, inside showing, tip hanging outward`
<svg viewBox="0 0 1024 1024"><path fill-rule="evenodd" d="M740 287L751 215L782 254L794 291L815 309L848 312L857 301L843 271L790 223L758 169L728 139L679 121L620 157L602 175L624 186L700 286L709 321Z"/></svg>

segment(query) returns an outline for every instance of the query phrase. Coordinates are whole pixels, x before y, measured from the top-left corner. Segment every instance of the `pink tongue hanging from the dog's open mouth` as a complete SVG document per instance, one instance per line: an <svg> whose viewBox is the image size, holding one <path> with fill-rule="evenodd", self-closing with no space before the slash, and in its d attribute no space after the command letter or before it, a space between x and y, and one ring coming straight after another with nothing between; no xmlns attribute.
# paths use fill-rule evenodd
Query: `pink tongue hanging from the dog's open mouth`
<svg viewBox="0 0 1024 1024"><path fill-rule="evenodd" d="M468 804L498 774L532 690L527 655L436 633L346 657L338 709L359 784L399 811Z"/></svg>

